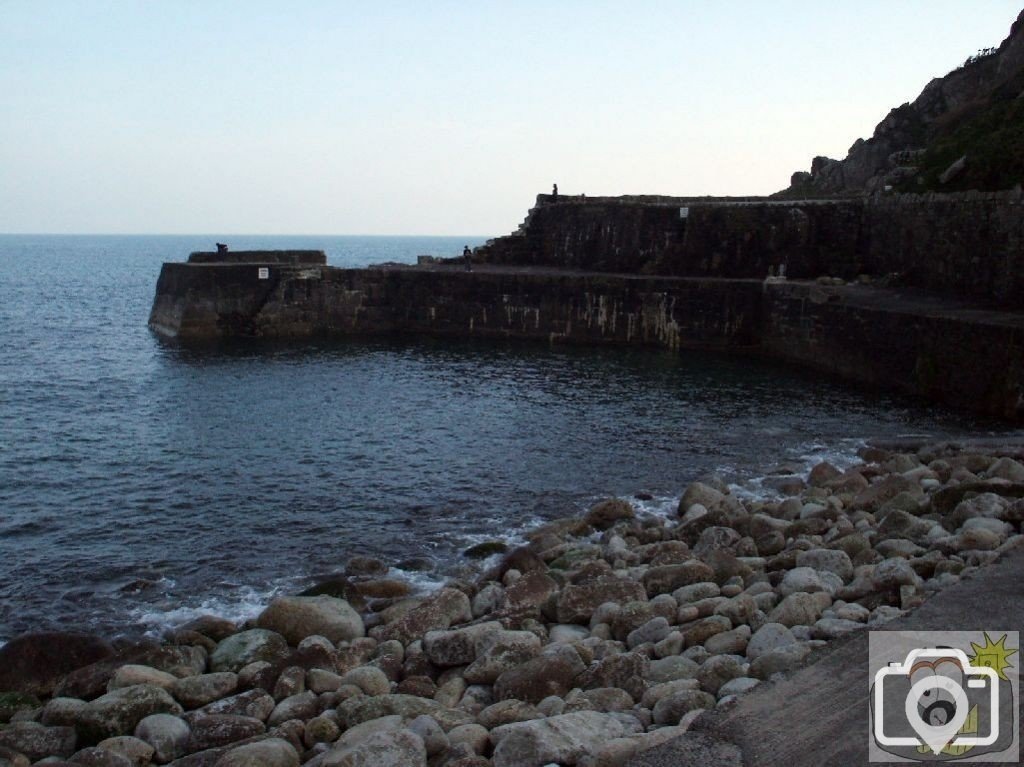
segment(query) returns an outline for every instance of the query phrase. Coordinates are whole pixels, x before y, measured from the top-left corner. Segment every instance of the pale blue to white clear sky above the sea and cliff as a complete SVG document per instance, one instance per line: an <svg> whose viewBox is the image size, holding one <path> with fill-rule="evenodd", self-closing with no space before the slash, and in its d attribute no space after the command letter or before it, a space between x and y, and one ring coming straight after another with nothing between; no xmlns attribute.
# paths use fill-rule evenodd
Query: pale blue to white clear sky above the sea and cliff
<svg viewBox="0 0 1024 767"><path fill-rule="evenodd" d="M763 195L1020 0L0 0L0 232L507 233Z"/></svg>

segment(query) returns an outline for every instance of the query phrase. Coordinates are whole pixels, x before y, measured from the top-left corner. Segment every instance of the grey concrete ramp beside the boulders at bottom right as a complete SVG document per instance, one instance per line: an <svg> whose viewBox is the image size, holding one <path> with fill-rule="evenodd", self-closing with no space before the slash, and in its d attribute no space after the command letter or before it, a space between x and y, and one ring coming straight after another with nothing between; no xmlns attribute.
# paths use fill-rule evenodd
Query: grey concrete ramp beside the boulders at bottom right
<svg viewBox="0 0 1024 767"><path fill-rule="evenodd" d="M1024 629L1024 547L885 629ZM791 677L757 687L734 709L700 717L686 735L641 754L629 767L866 765L867 694L863 631L824 648Z"/></svg>

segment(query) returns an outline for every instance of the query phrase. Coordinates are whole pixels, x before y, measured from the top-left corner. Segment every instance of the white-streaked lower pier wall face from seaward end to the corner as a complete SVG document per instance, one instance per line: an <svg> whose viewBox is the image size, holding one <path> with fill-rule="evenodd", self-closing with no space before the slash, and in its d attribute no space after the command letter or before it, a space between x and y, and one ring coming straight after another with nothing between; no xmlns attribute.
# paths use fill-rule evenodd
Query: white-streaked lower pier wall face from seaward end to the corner
<svg viewBox="0 0 1024 767"><path fill-rule="evenodd" d="M759 282L164 264L150 325L181 339L416 333L753 346Z"/></svg>

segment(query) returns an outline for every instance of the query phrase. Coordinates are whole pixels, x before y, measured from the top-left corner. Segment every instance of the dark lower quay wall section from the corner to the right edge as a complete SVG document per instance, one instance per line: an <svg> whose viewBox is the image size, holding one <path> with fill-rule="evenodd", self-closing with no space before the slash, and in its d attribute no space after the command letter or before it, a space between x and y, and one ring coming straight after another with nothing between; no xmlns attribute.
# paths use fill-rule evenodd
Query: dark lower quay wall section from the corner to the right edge
<svg viewBox="0 0 1024 767"><path fill-rule="evenodd" d="M1024 317L879 300L856 288L765 292L771 357L1009 420L1024 418Z"/></svg>

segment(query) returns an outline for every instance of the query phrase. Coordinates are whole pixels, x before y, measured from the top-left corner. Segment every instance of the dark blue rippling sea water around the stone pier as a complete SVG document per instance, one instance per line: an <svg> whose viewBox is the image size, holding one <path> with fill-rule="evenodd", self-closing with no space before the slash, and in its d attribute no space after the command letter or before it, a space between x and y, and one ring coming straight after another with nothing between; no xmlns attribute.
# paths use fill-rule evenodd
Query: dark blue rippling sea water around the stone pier
<svg viewBox="0 0 1024 767"><path fill-rule="evenodd" d="M0 641L241 617L356 554L430 557L410 574L427 588L468 545L605 495L671 513L707 472L758 492L781 462L849 462L865 438L998 428L694 352L161 341L161 262L214 239L0 237ZM346 266L479 242L229 239Z"/></svg>

